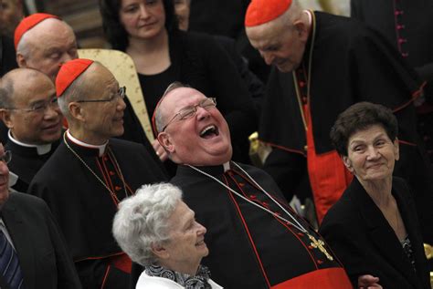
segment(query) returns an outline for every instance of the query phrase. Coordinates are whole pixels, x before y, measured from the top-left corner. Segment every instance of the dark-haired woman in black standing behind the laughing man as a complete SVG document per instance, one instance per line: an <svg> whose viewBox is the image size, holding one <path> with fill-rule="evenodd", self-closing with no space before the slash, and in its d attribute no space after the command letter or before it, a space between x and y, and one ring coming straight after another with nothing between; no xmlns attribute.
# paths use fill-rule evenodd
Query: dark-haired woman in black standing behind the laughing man
<svg viewBox="0 0 433 289"><path fill-rule="evenodd" d="M100 12L111 46L135 63L149 115L170 83L188 84L216 98L230 127L234 159L248 160L256 109L236 67L215 40L179 31L172 0L100 0ZM159 144L154 147L165 157Z"/></svg>

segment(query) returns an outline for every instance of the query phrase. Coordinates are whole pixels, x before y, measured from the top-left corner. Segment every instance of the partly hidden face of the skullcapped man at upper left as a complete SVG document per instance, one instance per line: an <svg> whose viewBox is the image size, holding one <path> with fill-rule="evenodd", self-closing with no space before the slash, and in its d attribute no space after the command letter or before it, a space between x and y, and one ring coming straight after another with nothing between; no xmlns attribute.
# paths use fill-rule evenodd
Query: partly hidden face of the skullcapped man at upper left
<svg viewBox="0 0 433 289"><path fill-rule="evenodd" d="M23 35L20 43L25 37L28 55L17 55L18 66L35 68L53 82L62 63L78 58L73 31L58 19L49 18L37 24Z"/></svg>

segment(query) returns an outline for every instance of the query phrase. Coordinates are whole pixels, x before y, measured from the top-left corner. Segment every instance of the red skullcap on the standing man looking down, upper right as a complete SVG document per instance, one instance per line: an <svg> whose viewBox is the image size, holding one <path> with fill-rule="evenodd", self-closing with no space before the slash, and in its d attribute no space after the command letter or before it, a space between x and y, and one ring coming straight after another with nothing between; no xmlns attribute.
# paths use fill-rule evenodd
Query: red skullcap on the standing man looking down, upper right
<svg viewBox="0 0 433 289"><path fill-rule="evenodd" d="M245 15L245 26L259 26L278 18L289 9L291 0L252 0Z"/></svg>

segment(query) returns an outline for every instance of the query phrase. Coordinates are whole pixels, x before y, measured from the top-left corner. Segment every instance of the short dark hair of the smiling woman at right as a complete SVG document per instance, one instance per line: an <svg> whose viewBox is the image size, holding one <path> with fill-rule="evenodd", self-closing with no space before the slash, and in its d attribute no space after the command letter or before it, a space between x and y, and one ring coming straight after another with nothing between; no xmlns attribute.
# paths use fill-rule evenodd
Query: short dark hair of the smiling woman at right
<svg viewBox="0 0 433 289"><path fill-rule="evenodd" d="M371 102L358 102L344 110L335 120L330 138L335 150L341 156L347 156L350 137L357 131L380 125L389 139L395 140L398 134L398 122L390 108Z"/></svg>

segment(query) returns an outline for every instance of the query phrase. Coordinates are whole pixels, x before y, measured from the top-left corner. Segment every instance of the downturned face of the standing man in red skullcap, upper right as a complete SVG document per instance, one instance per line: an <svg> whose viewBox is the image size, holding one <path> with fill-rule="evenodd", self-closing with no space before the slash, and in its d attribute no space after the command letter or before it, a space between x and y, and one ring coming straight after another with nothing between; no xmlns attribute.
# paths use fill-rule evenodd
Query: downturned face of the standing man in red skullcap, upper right
<svg viewBox="0 0 433 289"><path fill-rule="evenodd" d="M290 72L300 66L308 33L303 26L284 26L274 20L246 28L248 39L268 65L281 72Z"/></svg>

